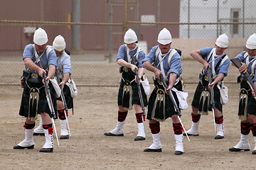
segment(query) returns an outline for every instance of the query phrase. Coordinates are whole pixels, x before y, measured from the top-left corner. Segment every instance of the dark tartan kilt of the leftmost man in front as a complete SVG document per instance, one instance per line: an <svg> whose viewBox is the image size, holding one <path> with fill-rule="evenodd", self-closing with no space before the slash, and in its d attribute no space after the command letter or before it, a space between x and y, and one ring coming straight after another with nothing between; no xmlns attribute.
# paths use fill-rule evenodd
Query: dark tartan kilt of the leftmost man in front
<svg viewBox="0 0 256 170"><path fill-rule="evenodd" d="M36 87L36 88L39 89L43 86L43 83L29 83L28 81L27 81L27 84L25 83L25 86L23 88L23 94L22 94L22 98L21 98L21 108L20 108L20 111L19 111L19 115L22 115L24 117L28 117L29 95L30 95L29 87L31 87L31 88ZM55 115L56 115L56 113L57 113L57 102L56 102L55 90L54 90L53 85L51 83L49 83L49 87L50 87L50 96L51 96L52 101L53 101L53 107L54 107L54 111L55 111ZM48 106L48 102L47 102L47 99L46 99L46 91L45 91L44 86L39 90L39 102L38 102L38 111L37 111L37 113L38 114L48 113L51 117L50 108Z"/></svg>

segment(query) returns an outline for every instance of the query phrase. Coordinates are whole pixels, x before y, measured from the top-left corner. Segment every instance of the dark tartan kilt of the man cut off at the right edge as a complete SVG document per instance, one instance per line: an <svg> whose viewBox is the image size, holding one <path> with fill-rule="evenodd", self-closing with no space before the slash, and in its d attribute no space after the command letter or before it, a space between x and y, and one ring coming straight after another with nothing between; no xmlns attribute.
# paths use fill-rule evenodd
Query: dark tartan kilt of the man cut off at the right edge
<svg viewBox="0 0 256 170"><path fill-rule="evenodd" d="M249 84L247 84L247 81L245 79L241 81L240 89L246 89L248 91L247 113L256 115L256 100L252 96L252 90L250 89L250 86Z"/></svg>

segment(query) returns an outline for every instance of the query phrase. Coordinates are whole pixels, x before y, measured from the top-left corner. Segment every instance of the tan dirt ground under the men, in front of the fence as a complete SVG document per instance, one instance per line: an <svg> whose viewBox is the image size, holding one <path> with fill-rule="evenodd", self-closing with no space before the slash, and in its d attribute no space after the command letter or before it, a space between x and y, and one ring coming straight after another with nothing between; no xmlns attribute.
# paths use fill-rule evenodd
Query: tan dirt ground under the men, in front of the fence
<svg viewBox="0 0 256 170"><path fill-rule="evenodd" d="M129 111L124 125L124 137L105 137L117 119L117 87L82 87L75 98L74 114L70 111L72 135L69 140L54 140L53 153L41 153L44 137L34 137L35 148L14 150L24 138L24 118L18 115L22 89L19 86L1 86L0 169L255 169L255 156L250 152L231 153L240 140L240 120L237 118L238 84L227 84L229 103L224 106L225 138L214 140L212 114L201 117L200 136L184 138L185 153L174 155L175 141L171 119L161 123L163 152L146 153L152 142L148 121L146 140L135 142L137 123L134 111ZM196 84L187 84L188 105ZM182 111L181 120L186 130L191 127L191 108ZM37 122L38 123L38 122ZM55 125L60 135L58 120ZM250 137L252 149L254 143Z"/></svg>

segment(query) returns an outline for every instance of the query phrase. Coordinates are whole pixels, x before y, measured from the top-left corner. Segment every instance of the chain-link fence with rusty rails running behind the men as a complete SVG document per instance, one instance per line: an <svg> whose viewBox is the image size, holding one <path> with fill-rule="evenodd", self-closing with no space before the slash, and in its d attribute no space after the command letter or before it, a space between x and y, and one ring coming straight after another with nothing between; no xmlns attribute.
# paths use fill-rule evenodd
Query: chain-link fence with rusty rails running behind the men
<svg viewBox="0 0 256 170"><path fill-rule="evenodd" d="M118 85L115 58L128 28L135 30L145 52L167 28L172 47L182 50L184 81L195 83L202 66L192 60L191 50L213 47L222 33L230 38L230 58L246 50L247 38L255 33L255 7L254 0L2 0L0 84L19 83L23 48L33 43L38 27L48 33L48 45L63 35L71 52L72 77L82 86ZM225 81L235 82L236 74L230 66Z"/></svg>

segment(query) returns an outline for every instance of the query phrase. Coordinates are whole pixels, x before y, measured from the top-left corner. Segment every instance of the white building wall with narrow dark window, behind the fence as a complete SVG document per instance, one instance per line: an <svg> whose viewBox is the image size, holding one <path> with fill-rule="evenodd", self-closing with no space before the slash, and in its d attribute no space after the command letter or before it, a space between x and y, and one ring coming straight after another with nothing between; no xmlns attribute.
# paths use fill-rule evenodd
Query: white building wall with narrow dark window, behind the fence
<svg viewBox="0 0 256 170"><path fill-rule="evenodd" d="M190 1L190 4L188 4ZM181 23L230 23L231 11L239 11L240 22L242 22L243 6L242 0L181 0L180 22ZM190 18L188 19L188 8L190 8ZM256 1L245 1L245 22L256 22ZM219 14L217 15L217 11ZM217 38L218 35L226 33L230 38L248 38L252 33L256 33L255 25L239 25L239 33L232 33L232 25L180 25L180 38Z"/></svg>

